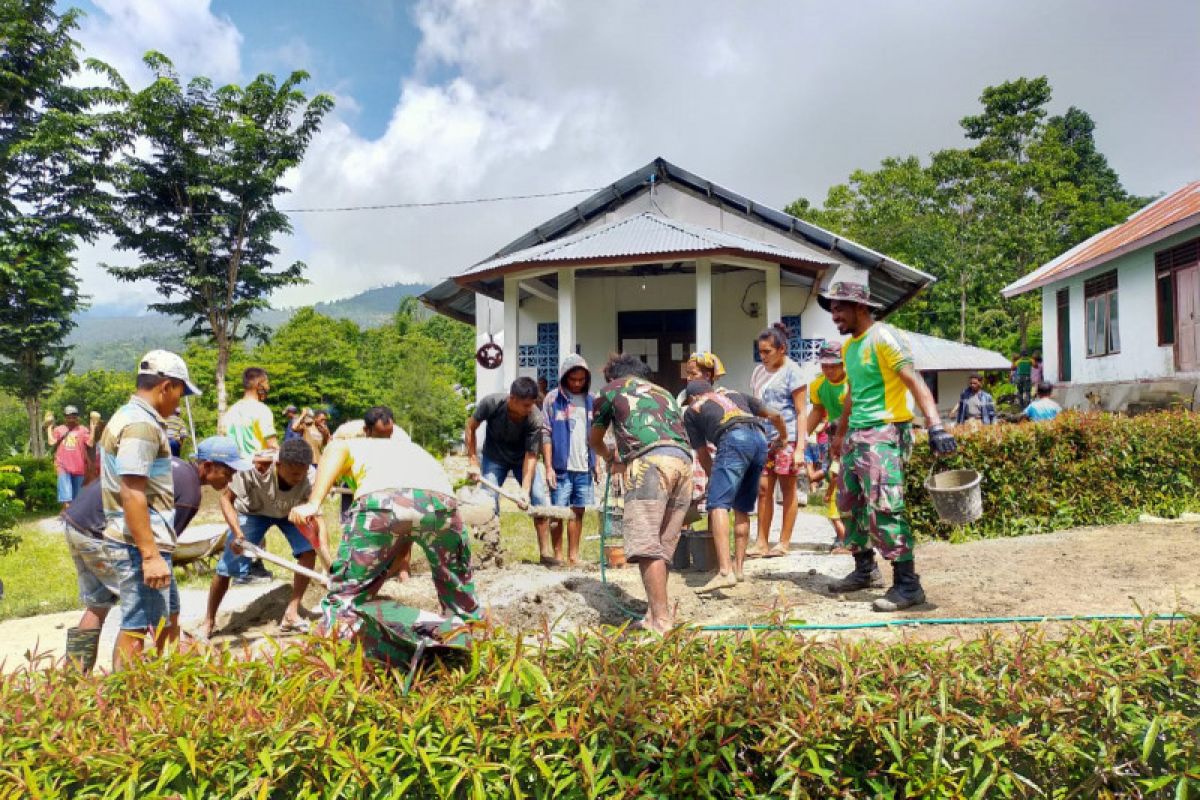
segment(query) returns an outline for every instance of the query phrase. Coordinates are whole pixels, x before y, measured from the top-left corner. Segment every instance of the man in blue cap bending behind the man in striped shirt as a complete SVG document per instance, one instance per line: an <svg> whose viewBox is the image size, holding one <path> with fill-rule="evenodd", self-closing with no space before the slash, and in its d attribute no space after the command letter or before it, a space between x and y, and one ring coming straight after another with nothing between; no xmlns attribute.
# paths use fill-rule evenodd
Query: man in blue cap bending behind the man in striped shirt
<svg viewBox="0 0 1200 800"><path fill-rule="evenodd" d="M196 463L179 458L170 461L172 493L175 515L175 535L180 535L200 507L200 487L224 491L234 473L250 469L248 461L238 452L238 444L229 437L209 437L196 450ZM88 607L77 627L67 628L67 656L84 672L96 663L100 628L109 609L116 604L120 588L116 571L108 561L104 548L104 505L101 481L89 483L62 512L67 549L74 561L79 583L79 600Z"/></svg>

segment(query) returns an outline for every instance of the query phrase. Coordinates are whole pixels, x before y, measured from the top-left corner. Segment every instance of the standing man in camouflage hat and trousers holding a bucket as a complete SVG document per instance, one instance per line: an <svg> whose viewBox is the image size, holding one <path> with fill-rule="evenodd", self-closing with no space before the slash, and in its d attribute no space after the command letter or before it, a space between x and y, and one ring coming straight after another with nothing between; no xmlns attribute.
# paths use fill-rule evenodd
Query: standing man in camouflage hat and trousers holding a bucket
<svg viewBox="0 0 1200 800"><path fill-rule="evenodd" d="M905 515L904 469L912 453L912 393L929 426L929 446L942 456L954 452L954 437L942 427L925 381L912 365L912 348L902 331L877 323L862 283L834 283L818 297L829 311L842 344L842 365L850 390L833 439L841 457L838 509L846 523L846 542L854 571L829 585L834 593L871 585L875 549L892 561L893 582L872 603L877 612L895 612L925 602L912 554L912 529Z"/></svg>

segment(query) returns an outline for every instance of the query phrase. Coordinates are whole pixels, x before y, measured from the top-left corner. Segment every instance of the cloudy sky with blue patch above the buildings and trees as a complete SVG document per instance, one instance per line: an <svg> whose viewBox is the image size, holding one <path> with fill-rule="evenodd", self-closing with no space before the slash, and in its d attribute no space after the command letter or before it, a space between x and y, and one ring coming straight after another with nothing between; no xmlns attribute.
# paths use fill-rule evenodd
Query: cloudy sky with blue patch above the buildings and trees
<svg viewBox="0 0 1200 800"><path fill-rule="evenodd" d="M305 70L336 98L287 209L594 190L668 161L757 201L820 203L888 156L961 146L980 91L1045 74L1138 194L1200 179L1195 0L79 0L86 55L143 85L150 49L185 77ZM280 258L310 283L276 306L433 283L587 194L293 213ZM95 305L150 285L102 240Z"/></svg>

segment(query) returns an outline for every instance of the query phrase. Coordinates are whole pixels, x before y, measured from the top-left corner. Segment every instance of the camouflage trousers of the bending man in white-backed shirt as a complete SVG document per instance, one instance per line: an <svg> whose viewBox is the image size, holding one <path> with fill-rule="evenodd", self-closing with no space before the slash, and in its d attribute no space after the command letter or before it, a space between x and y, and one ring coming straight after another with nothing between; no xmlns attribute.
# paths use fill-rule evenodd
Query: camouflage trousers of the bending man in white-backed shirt
<svg viewBox="0 0 1200 800"><path fill-rule="evenodd" d="M394 509L412 509L420 522L397 519ZM364 650L400 664L422 637L445 638L442 618L392 600L376 600L404 545L424 551L444 614L479 616L472 583L470 545L454 498L436 492L376 492L354 501L344 518L342 542L330 567L332 584L320 603L320 632L356 638ZM461 625L461 622L458 624ZM445 628L445 630L443 630Z"/></svg>

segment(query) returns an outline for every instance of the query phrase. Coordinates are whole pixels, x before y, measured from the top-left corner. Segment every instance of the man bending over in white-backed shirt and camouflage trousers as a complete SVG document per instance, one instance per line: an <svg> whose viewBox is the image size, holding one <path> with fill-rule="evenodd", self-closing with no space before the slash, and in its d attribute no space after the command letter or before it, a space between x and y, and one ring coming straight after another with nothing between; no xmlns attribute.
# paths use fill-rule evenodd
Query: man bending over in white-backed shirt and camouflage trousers
<svg viewBox="0 0 1200 800"><path fill-rule="evenodd" d="M467 530L442 464L409 440L335 439L320 457L308 503L292 511L292 521L320 513L322 500L344 476L354 479L354 504L330 567L319 632L355 638L391 664L407 663L422 639L466 642L463 622L479 618L479 602ZM428 559L444 616L376 599L412 543Z"/></svg>

